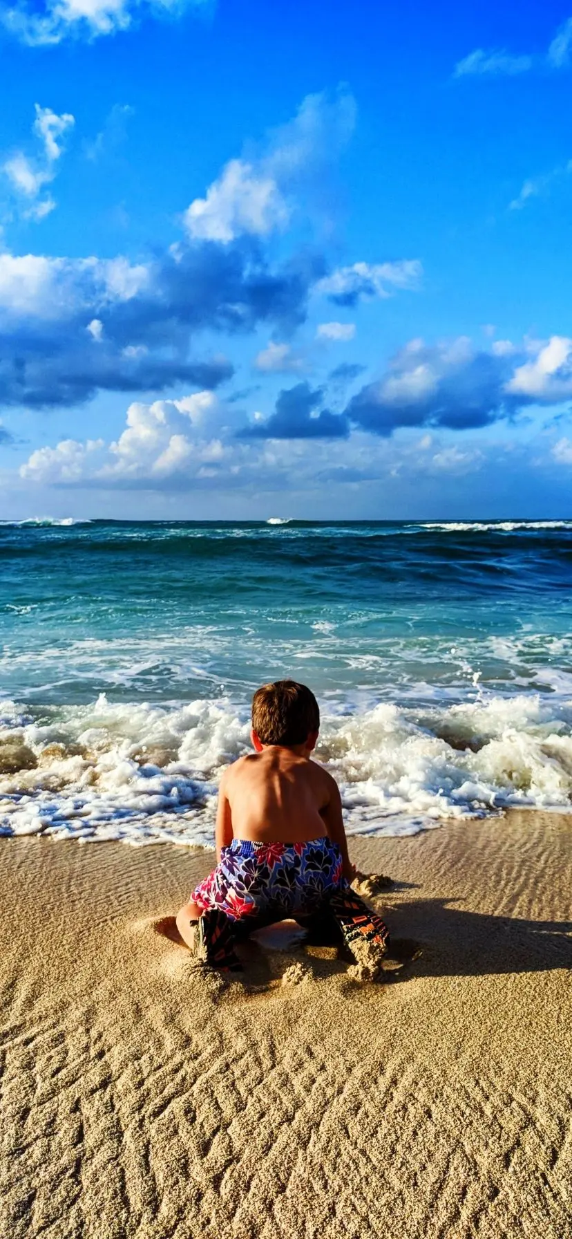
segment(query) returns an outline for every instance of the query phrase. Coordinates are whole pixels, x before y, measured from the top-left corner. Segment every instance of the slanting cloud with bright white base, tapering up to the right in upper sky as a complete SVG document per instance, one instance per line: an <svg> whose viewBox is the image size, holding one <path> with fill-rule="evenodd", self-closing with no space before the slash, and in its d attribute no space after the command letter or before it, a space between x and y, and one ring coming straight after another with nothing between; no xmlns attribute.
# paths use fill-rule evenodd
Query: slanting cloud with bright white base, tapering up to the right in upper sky
<svg viewBox="0 0 572 1239"><path fill-rule="evenodd" d="M230 160L206 197L194 198L183 216L188 234L229 243L286 228L295 212L292 192L337 159L354 123L355 102L347 92L334 99L307 95L260 154Z"/></svg>

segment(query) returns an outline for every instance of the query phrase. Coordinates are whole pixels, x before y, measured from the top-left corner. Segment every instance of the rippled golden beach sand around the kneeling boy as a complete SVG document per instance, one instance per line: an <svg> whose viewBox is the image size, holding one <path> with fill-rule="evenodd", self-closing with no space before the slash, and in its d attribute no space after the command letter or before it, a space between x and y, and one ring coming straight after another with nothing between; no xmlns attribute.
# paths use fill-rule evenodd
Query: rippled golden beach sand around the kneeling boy
<svg viewBox="0 0 572 1239"><path fill-rule="evenodd" d="M206 981L161 918L210 852L0 854L1 1239L570 1239L572 819L354 840L423 949L376 985Z"/></svg>

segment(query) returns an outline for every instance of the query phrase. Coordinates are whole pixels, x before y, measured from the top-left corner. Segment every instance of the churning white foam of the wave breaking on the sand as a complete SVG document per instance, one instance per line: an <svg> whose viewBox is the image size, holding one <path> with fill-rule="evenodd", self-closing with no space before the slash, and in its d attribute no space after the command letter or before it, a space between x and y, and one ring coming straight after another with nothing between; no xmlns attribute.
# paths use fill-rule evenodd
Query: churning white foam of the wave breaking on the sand
<svg viewBox="0 0 572 1239"><path fill-rule="evenodd" d="M572 716L540 695L323 719L317 757L349 834L400 835L513 805L570 812ZM0 705L0 831L134 845L213 843L217 786L249 750L230 700Z"/></svg>

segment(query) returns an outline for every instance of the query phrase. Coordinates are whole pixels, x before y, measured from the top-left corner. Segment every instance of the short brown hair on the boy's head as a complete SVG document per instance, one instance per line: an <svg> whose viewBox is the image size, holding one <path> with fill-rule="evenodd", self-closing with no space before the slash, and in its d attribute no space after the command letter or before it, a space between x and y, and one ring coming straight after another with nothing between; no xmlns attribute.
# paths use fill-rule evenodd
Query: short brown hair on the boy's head
<svg viewBox="0 0 572 1239"><path fill-rule="evenodd" d="M296 680L262 684L253 698L253 729L262 745L303 745L319 729L318 703Z"/></svg>

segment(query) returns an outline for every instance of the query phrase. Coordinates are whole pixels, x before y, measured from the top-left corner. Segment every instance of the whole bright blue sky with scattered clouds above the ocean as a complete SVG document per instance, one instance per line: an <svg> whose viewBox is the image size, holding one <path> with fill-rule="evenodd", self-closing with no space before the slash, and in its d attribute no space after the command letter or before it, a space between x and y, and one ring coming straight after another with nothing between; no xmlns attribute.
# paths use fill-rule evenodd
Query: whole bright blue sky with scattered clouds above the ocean
<svg viewBox="0 0 572 1239"><path fill-rule="evenodd" d="M572 4L0 0L0 519L572 517Z"/></svg>

